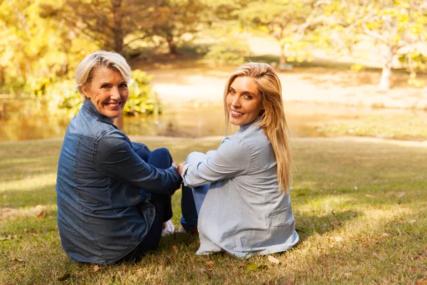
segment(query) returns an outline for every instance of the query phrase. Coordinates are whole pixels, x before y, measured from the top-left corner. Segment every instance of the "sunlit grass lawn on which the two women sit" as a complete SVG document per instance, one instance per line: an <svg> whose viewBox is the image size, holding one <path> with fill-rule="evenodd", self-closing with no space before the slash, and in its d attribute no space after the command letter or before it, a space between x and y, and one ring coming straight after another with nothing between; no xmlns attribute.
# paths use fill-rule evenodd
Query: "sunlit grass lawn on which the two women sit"
<svg viewBox="0 0 427 285"><path fill-rule="evenodd" d="M218 139L135 138L179 162ZM241 260L196 256L172 234L137 264L70 262L56 227L60 140L0 143L0 284L421 284L427 279L427 145L363 138L294 139L292 209L300 243ZM180 192L174 199L178 225ZM424 284L424 283L422 283Z"/></svg>

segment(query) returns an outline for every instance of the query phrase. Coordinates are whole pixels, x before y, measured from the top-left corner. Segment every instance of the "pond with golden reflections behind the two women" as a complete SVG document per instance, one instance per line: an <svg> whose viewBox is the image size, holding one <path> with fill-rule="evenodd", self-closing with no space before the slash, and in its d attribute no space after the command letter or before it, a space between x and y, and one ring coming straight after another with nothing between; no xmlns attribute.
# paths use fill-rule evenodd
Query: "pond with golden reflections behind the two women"
<svg viewBox="0 0 427 285"><path fill-rule="evenodd" d="M426 140L427 112L423 110L357 108L343 105L286 102L290 135L322 137L367 135L404 140ZM0 100L0 141L62 138L68 118L43 113L43 105L31 100ZM164 106L158 116L125 118L127 135L200 138L224 135L221 105L183 104Z"/></svg>

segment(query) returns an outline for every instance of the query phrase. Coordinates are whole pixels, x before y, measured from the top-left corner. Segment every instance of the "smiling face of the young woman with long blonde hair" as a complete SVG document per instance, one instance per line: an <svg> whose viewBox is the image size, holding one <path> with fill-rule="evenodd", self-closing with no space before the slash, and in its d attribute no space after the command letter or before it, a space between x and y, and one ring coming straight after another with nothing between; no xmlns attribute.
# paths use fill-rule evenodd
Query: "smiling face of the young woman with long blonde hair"
<svg viewBox="0 0 427 285"><path fill-rule="evenodd" d="M228 88L226 105L228 118L233 125L241 126L253 122L263 110L255 81L250 77L236 77Z"/></svg>

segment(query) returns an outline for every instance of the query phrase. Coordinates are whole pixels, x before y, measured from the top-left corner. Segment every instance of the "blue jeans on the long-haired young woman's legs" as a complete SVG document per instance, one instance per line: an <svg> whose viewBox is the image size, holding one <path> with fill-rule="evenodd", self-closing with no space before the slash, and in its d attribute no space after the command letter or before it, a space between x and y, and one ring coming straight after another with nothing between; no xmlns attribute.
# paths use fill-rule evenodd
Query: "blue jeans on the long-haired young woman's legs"
<svg viewBox="0 0 427 285"><path fill-rule="evenodd" d="M210 184L192 188L182 185L181 225L187 232L191 232L191 229L197 226L200 207L203 204L209 186Z"/></svg>

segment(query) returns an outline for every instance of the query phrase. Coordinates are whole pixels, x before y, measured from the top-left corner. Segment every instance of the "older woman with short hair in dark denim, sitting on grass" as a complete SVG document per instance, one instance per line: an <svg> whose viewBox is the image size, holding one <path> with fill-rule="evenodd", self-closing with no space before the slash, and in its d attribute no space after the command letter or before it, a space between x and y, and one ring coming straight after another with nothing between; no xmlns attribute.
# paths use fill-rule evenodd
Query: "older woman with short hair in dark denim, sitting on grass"
<svg viewBox="0 0 427 285"><path fill-rule="evenodd" d="M58 229L72 261L139 259L159 244L181 177L169 151L131 142L115 125L125 107L130 67L97 51L75 70L84 103L70 120L58 162Z"/></svg>

